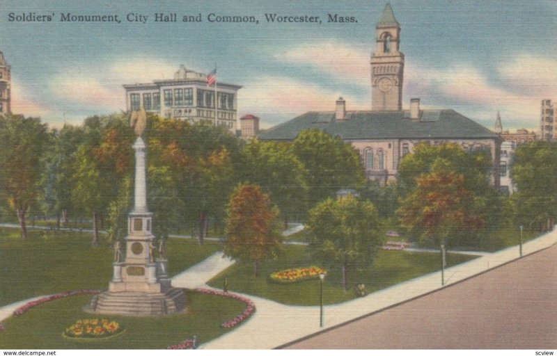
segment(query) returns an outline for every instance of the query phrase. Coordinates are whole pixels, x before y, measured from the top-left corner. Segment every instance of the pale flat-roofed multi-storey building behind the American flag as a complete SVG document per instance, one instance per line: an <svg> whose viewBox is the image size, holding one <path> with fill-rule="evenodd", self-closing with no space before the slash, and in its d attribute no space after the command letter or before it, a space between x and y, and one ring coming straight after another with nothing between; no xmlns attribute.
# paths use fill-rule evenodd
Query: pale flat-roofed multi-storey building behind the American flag
<svg viewBox="0 0 557 356"><path fill-rule="evenodd" d="M152 83L125 84L128 111L144 108L163 118L177 118L189 122L207 121L236 132L237 91L242 86L217 82L215 89L207 85L207 74L187 70L180 65L174 79ZM215 118L215 114L218 118Z"/></svg>

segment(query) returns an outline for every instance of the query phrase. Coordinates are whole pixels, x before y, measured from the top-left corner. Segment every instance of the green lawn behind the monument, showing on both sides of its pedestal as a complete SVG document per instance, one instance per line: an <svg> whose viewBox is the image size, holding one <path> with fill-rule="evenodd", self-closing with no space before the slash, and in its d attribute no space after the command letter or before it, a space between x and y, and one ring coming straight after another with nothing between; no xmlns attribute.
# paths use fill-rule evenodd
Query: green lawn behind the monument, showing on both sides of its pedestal
<svg viewBox="0 0 557 356"><path fill-rule="evenodd" d="M113 249L91 246L91 233L0 229L0 306L73 289L106 289L112 277ZM101 237L102 240L102 237ZM220 250L217 243L170 238L168 270L175 275Z"/></svg>

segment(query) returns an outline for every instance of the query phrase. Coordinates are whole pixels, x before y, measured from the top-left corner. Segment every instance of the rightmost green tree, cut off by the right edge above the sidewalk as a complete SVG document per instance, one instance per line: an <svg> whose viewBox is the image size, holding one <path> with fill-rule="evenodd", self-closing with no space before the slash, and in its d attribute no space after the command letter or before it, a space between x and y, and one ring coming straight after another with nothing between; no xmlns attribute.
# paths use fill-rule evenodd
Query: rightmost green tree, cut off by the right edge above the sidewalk
<svg viewBox="0 0 557 356"><path fill-rule="evenodd" d="M511 196L519 225L552 229L557 217L557 144L535 141L515 150L510 175L518 192Z"/></svg>

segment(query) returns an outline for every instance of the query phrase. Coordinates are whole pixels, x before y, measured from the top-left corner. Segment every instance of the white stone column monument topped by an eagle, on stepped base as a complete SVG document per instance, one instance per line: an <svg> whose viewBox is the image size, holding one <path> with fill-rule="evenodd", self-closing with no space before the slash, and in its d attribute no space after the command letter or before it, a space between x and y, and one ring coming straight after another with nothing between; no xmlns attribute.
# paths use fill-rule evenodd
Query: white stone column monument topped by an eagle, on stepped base
<svg viewBox="0 0 557 356"><path fill-rule="evenodd" d="M93 297L86 308L88 312L154 316L180 312L186 305L185 293L173 288L166 275L164 243L159 245L159 258L155 257L152 213L147 209L146 145L141 138L146 122L145 111L132 112L130 124L137 136L132 146L135 151L134 209L127 218L125 258L120 261L122 252L117 242L109 290Z"/></svg>

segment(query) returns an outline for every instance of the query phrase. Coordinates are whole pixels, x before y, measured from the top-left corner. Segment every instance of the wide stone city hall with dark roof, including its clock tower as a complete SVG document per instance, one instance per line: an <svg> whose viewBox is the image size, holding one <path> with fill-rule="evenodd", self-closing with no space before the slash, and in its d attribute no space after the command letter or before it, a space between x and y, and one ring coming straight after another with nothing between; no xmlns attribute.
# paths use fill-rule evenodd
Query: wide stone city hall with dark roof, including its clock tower
<svg viewBox="0 0 557 356"><path fill-rule="evenodd" d="M402 157L419 143L456 143L466 151L485 150L493 162L492 184L499 187L501 137L450 109L423 110L420 99L402 110L404 55L400 53L400 25L389 4L376 26L375 54L371 56L371 111L346 111L342 97L334 111L309 112L260 133L261 140L294 140L304 129L321 129L351 143L361 155L366 177L394 180ZM332 105L331 105L332 106Z"/></svg>

